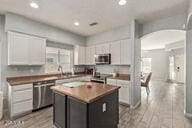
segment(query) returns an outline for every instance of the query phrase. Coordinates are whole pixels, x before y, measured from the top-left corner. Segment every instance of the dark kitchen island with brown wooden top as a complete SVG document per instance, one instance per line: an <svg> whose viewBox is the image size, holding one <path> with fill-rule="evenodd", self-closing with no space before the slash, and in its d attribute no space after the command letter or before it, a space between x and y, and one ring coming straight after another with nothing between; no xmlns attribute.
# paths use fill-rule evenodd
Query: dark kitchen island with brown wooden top
<svg viewBox="0 0 192 128"><path fill-rule="evenodd" d="M57 128L117 128L119 87L84 82L73 88L60 85L51 89Z"/></svg>

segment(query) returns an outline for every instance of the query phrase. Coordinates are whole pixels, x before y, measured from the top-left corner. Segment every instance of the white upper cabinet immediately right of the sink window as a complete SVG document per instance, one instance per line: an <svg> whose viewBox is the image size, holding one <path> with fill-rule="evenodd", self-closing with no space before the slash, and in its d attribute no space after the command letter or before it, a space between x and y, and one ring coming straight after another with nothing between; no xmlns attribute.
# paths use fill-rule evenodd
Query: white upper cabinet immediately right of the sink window
<svg viewBox="0 0 192 128"><path fill-rule="evenodd" d="M83 46L74 47L74 65L85 65L85 50Z"/></svg>

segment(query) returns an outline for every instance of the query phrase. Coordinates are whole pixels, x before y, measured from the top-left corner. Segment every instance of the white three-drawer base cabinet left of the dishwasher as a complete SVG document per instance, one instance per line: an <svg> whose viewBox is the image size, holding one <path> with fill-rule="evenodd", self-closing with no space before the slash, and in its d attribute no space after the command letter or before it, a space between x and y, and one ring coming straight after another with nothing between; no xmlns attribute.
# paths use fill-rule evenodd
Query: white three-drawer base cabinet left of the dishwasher
<svg viewBox="0 0 192 128"><path fill-rule="evenodd" d="M33 109L33 84L9 85L9 114L11 118Z"/></svg>

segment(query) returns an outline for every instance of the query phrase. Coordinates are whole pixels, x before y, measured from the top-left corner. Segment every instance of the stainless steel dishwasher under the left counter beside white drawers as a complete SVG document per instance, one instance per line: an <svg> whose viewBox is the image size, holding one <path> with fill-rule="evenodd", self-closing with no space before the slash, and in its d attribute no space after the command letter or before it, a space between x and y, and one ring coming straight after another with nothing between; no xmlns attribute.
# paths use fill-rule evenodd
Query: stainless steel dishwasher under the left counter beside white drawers
<svg viewBox="0 0 192 128"><path fill-rule="evenodd" d="M52 86L55 86L55 81L33 83L33 110L53 104Z"/></svg>

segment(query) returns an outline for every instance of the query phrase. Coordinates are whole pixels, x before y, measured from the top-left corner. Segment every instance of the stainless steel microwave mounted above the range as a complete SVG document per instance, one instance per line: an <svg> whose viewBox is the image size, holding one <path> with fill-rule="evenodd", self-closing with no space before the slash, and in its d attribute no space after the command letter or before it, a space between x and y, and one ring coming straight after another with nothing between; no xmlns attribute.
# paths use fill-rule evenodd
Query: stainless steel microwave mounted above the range
<svg viewBox="0 0 192 128"><path fill-rule="evenodd" d="M111 64L111 54L98 54L94 57L96 65Z"/></svg>

